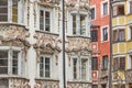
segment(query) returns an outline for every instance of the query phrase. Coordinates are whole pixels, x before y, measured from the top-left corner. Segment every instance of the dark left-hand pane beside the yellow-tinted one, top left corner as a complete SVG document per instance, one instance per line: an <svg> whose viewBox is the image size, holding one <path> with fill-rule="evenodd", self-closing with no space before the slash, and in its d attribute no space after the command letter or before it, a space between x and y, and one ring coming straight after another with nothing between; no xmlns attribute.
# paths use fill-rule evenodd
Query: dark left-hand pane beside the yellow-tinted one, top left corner
<svg viewBox="0 0 132 88"><path fill-rule="evenodd" d="M8 0L0 1L0 21L8 21Z"/></svg>

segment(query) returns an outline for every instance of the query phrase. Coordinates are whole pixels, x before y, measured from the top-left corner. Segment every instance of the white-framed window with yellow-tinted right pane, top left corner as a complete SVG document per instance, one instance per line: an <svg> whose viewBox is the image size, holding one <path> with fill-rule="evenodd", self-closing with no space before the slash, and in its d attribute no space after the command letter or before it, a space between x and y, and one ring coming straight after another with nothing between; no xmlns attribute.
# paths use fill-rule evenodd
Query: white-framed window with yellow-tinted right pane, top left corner
<svg viewBox="0 0 132 88"><path fill-rule="evenodd" d="M23 7L21 0L0 0L0 22L23 23Z"/></svg>

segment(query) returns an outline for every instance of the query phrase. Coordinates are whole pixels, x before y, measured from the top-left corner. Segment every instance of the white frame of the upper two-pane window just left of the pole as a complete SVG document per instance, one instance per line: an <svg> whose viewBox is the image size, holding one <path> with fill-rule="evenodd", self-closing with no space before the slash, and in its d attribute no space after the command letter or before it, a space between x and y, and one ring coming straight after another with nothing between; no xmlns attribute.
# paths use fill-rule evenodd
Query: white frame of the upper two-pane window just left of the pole
<svg viewBox="0 0 132 88"><path fill-rule="evenodd" d="M41 26L40 26L40 11L41 10L43 10L43 12L44 12L44 29L42 30L42 29L40 29ZM45 31L45 11L47 11L47 12L50 12L50 31ZM52 9L46 9L46 8L42 8L42 7L40 7L40 10L38 10L38 31L43 31L43 32L52 32Z"/></svg>

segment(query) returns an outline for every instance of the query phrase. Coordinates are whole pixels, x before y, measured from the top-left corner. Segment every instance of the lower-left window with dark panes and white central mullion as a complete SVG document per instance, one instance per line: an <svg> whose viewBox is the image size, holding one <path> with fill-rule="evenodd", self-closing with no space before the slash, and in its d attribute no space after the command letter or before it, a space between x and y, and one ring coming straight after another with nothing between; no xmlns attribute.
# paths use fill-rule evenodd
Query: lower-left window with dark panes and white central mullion
<svg viewBox="0 0 132 88"><path fill-rule="evenodd" d="M19 75L20 62L19 51L0 51L0 74L9 74L9 68L11 68L12 75Z"/></svg>

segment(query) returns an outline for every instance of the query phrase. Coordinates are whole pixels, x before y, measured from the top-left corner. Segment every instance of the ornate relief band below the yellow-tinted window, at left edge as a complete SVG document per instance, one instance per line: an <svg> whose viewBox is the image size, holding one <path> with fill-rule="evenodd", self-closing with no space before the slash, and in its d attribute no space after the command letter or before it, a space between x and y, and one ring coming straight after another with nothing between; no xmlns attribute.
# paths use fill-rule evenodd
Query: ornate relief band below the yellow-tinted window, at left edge
<svg viewBox="0 0 132 88"><path fill-rule="evenodd" d="M26 61L26 53L31 44L26 41L30 33L25 28L18 25L0 25L0 44L7 46L19 46L23 51L23 56Z"/></svg>

